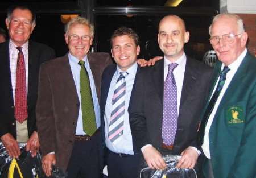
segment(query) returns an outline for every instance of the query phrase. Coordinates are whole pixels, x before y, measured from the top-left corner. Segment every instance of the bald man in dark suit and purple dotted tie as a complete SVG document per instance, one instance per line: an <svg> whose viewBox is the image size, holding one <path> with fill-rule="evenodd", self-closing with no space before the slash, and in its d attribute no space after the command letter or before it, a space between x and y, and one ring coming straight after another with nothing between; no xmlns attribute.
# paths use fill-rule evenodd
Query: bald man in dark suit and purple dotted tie
<svg viewBox="0 0 256 178"><path fill-rule="evenodd" d="M212 69L185 55L188 40L183 19L165 16L158 31L164 60L138 73L130 127L152 169L165 168L167 154L181 155L177 167L193 168L200 154L196 135Z"/></svg>

